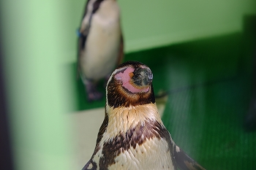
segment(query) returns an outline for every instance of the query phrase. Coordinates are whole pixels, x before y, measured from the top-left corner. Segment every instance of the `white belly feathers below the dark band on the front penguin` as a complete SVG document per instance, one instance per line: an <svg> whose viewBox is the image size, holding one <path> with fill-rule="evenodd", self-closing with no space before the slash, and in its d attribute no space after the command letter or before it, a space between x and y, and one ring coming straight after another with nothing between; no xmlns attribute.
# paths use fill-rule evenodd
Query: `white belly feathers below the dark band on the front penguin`
<svg viewBox="0 0 256 170"><path fill-rule="evenodd" d="M135 149L121 152L115 158L116 163L109 166L112 169L169 169L174 170L168 144L164 139L150 139Z"/></svg>

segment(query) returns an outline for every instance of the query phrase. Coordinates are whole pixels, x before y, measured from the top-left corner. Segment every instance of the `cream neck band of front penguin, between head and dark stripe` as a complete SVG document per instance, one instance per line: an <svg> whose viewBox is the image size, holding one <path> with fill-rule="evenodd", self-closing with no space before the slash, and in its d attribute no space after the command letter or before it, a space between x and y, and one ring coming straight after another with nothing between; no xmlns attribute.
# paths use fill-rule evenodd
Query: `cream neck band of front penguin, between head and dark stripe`
<svg viewBox="0 0 256 170"><path fill-rule="evenodd" d="M158 122L162 124L156 104L143 104L135 107L118 107L113 109L106 105L106 115L108 116L107 134L115 137L125 134L129 129L138 125L144 125L146 121Z"/></svg>

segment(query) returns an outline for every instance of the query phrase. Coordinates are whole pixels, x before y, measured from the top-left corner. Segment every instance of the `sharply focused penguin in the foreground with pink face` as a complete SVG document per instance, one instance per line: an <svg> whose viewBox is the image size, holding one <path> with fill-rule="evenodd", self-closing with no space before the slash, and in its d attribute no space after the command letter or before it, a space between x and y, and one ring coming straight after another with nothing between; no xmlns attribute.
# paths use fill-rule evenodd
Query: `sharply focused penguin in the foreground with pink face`
<svg viewBox="0 0 256 170"><path fill-rule="evenodd" d="M83 170L203 170L171 138L155 104L153 74L137 61L123 63L106 87L105 120Z"/></svg>

